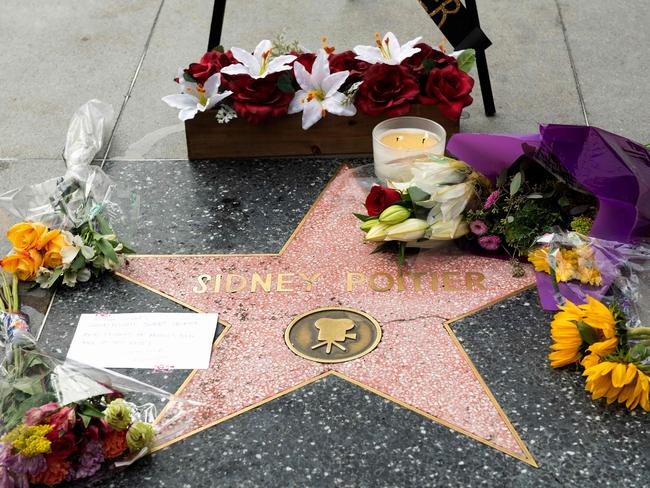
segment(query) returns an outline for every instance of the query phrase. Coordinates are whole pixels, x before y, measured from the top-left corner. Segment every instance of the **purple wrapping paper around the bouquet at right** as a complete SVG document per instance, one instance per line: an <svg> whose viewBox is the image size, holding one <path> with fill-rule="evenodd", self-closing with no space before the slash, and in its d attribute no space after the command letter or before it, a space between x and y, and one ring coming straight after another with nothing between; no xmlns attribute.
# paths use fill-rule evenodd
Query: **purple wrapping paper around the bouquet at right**
<svg viewBox="0 0 650 488"><path fill-rule="evenodd" d="M523 154L554 161L598 199L592 237L630 243L650 236L650 150L630 139L596 127L551 124L540 126L539 134L456 134L447 150L493 181ZM615 278L610 264L602 264L603 287L561 283L560 293L574 303L584 303L587 293L601 298ZM542 306L556 310L549 275L537 273L537 289Z"/></svg>

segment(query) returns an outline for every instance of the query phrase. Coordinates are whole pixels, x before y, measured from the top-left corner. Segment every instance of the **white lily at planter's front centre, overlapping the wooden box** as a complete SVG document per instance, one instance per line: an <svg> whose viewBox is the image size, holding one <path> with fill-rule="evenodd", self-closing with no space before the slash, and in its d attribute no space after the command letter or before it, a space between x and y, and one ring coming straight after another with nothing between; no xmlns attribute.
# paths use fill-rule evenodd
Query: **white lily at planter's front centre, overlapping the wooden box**
<svg viewBox="0 0 650 488"><path fill-rule="evenodd" d="M327 112L335 115L352 116L357 109L346 103L345 94L338 91L349 76L349 71L330 74L327 53L320 49L311 73L301 63L295 63L293 71L300 90L289 104L289 113L302 112L302 128L309 129L325 116Z"/></svg>

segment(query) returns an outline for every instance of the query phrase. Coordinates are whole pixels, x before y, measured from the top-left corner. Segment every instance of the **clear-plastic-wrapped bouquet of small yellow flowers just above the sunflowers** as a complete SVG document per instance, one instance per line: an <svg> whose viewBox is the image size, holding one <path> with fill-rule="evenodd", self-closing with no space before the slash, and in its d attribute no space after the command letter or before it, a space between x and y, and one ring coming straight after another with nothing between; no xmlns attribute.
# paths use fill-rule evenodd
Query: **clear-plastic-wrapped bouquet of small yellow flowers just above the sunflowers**
<svg viewBox="0 0 650 488"><path fill-rule="evenodd" d="M555 309L566 300L598 300L609 292L633 315L650 323L650 245L625 244L556 229L537 239L528 255L534 265L542 306Z"/></svg>

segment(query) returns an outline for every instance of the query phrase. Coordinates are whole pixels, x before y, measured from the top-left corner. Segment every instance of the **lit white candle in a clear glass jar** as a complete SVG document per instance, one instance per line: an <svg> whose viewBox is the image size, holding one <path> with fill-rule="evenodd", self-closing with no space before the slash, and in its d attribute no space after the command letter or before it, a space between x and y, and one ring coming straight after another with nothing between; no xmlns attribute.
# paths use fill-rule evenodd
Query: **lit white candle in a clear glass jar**
<svg viewBox="0 0 650 488"><path fill-rule="evenodd" d="M420 117L385 120L372 135L375 174L382 181L409 180L412 161L445 152L445 130Z"/></svg>

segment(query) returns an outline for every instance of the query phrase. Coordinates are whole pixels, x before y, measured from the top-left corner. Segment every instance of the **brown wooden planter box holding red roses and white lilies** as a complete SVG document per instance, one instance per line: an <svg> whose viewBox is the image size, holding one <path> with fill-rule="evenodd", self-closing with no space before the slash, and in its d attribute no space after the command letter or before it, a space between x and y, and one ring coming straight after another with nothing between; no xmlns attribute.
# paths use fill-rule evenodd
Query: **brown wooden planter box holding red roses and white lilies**
<svg viewBox="0 0 650 488"><path fill-rule="evenodd" d="M215 110L199 112L185 121L189 159L372 154L372 129L390 118L363 113L354 117L328 114L303 130L301 113L262 124L243 119L219 124L215 114ZM407 115L435 120L445 128L448 139L459 130L459 121L444 117L435 105L412 105Z"/></svg>

